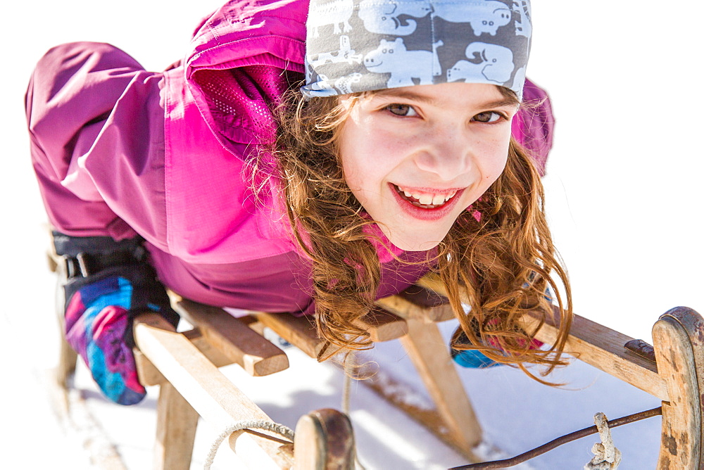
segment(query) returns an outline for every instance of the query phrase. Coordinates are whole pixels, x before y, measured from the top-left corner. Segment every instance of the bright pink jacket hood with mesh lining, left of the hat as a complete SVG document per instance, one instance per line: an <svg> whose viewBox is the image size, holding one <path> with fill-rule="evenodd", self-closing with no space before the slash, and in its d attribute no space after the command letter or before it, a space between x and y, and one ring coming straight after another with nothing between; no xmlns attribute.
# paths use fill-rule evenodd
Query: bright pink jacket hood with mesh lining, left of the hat
<svg viewBox="0 0 704 470"><path fill-rule="evenodd" d="M308 0L232 0L201 23L184 79L213 134L248 145L274 136L272 106L304 71L307 14Z"/></svg>

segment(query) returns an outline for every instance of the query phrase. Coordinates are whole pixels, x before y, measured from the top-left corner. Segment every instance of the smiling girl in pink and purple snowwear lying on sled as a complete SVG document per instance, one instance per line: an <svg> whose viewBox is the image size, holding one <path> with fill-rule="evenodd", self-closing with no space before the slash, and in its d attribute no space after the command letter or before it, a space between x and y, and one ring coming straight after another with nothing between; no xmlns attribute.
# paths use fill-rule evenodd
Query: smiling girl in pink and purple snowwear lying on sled
<svg viewBox="0 0 704 470"><path fill-rule="evenodd" d="M560 364L570 295L542 210L551 113L524 80L529 18L527 1L234 0L165 72L107 44L51 49L27 91L32 158L66 337L108 398L144 397L130 322L178 321L163 285L315 313L326 359L370 347L354 320L436 272L460 362ZM549 311L548 286L562 321L541 350L517 321Z"/></svg>

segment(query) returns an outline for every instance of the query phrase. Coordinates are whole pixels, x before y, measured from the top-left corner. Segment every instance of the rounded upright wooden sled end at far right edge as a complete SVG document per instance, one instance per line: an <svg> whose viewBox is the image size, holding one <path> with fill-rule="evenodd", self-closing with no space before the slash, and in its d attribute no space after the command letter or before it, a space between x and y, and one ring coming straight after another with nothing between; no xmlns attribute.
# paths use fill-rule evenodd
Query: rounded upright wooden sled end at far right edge
<svg viewBox="0 0 704 470"><path fill-rule="evenodd" d="M653 343L670 396L662 403L658 469L704 468L704 321L676 307L653 326Z"/></svg>

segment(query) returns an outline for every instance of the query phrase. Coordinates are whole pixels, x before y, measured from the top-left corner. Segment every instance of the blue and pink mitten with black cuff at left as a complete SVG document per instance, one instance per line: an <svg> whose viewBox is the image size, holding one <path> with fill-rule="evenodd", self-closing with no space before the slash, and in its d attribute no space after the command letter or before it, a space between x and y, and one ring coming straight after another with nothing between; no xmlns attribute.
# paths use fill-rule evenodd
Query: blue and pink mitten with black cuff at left
<svg viewBox="0 0 704 470"><path fill-rule="evenodd" d="M134 405L146 390L139 383L132 354L132 320L152 311L175 326L178 315L146 264L141 241L57 235L62 237L56 242L57 253L65 256L69 267L64 286L66 341L107 398Z"/></svg>

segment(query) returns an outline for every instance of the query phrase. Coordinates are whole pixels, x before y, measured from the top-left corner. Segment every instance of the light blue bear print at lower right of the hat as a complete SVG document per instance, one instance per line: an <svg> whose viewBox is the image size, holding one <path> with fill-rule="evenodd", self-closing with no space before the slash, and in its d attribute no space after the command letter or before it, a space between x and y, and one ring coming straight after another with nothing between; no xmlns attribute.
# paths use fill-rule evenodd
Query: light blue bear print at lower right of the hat
<svg viewBox="0 0 704 470"><path fill-rule="evenodd" d="M448 68L448 82L477 82L483 78L503 85L511 79L515 65L510 49L496 44L472 42L467 46L465 54L470 60L458 61Z"/></svg>

